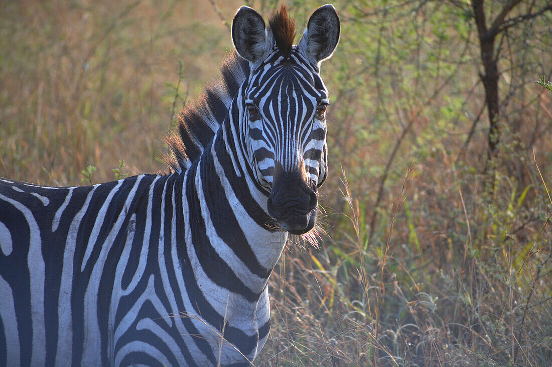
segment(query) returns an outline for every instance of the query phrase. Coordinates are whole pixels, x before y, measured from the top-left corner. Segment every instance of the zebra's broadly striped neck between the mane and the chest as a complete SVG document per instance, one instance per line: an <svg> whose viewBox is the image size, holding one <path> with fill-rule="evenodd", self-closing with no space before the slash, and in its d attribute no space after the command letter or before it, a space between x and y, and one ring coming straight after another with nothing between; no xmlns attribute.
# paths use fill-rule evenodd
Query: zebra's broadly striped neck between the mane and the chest
<svg viewBox="0 0 552 367"><path fill-rule="evenodd" d="M231 268L229 274L236 274L246 288L260 294L282 253L287 232L278 229L267 214L267 195L254 185L241 164L243 159L235 154L233 139L224 131L217 132L186 173L184 202L190 223L199 222L200 227L190 228L192 241L209 253L211 262Z"/></svg>

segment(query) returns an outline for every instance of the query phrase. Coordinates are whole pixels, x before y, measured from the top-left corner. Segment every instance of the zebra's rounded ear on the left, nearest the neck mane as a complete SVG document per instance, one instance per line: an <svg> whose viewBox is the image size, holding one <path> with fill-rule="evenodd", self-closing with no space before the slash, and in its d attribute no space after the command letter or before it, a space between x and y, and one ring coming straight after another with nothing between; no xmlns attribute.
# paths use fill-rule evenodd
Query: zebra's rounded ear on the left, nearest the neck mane
<svg viewBox="0 0 552 367"><path fill-rule="evenodd" d="M232 21L232 42L238 55L256 63L272 48L263 17L254 9L242 6Z"/></svg>

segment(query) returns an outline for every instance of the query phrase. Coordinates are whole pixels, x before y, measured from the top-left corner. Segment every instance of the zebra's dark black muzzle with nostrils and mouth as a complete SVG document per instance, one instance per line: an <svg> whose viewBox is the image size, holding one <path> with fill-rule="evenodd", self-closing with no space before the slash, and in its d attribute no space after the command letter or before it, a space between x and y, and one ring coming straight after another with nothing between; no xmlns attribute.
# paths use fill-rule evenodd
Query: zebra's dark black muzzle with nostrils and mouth
<svg viewBox="0 0 552 367"><path fill-rule="evenodd" d="M306 184L299 170L275 177L267 208L283 229L291 234L310 231L316 223L316 206L316 191Z"/></svg>

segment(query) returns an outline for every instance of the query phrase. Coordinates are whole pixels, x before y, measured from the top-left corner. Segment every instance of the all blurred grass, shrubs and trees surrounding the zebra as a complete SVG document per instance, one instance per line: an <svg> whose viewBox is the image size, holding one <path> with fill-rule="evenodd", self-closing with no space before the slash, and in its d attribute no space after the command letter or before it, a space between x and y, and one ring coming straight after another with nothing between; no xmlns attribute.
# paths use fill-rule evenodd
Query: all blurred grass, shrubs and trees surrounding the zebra
<svg viewBox="0 0 552 367"><path fill-rule="evenodd" d="M0 176L164 170L241 4L2 2ZM288 6L300 27L321 4ZM327 235L285 251L254 365L552 365L551 2L334 4Z"/></svg>

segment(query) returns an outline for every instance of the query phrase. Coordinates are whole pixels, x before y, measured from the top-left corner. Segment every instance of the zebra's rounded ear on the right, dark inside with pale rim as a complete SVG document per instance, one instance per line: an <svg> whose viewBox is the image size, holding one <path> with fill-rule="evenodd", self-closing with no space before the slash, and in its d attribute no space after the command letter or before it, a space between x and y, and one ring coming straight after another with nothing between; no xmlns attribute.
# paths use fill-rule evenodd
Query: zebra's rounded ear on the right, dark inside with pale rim
<svg viewBox="0 0 552 367"><path fill-rule="evenodd" d="M317 63L332 56L339 42L339 17L332 4L316 9L299 41L299 51Z"/></svg>

